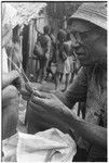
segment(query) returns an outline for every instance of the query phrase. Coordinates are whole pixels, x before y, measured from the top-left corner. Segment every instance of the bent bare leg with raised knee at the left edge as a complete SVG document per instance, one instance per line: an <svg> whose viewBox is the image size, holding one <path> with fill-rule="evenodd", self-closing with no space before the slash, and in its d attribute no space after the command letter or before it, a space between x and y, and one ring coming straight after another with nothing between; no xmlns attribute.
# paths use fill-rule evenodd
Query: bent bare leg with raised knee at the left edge
<svg viewBox="0 0 109 163"><path fill-rule="evenodd" d="M18 120L18 91L10 85L2 90L2 139L16 133Z"/></svg>

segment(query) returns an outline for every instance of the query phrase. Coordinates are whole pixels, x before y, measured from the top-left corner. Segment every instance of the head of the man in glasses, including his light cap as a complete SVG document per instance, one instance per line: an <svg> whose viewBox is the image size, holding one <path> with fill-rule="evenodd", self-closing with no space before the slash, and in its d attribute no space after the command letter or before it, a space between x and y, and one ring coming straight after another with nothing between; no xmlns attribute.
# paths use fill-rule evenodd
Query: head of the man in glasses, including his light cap
<svg viewBox="0 0 109 163"><path fill-rule="evenodd" d="M101 4L99 4L88 2L85 5L83 4L83 7L81 5L80 9L81 14L78 10L77 13L73 14L69 20L71 25L71 34L76 37L78 43L78 46L74 48L77 58L82 65L91 65L96 63L106 65L106 17L103 13L103 10L106 10L105 3L101 2Z"/></svg>

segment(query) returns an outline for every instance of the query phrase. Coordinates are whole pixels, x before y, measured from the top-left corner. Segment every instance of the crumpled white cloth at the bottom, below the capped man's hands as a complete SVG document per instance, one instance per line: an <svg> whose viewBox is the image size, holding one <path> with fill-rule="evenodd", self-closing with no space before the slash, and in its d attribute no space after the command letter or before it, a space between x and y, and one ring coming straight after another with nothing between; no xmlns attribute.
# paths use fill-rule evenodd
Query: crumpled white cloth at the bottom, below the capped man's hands
<svg viewBox="0 0 109 163"><path fill-rule="evenodd" d="M17 135L15 137L13 137L15 143L12 146L14 148L14 150L12 148L12 152L13 155L16 152L16 160L14 161L17 162L71 162L77 152L74 140L57 128L51 128L36 135L18 133L17 143ZM15 148L16 146L17 148ZM2 149L5 155L3 161L11 161L6 159L5 153L5 151L9 152L8 149L11 151L11 148L8 148L8 145L3 143ZM15 156L13 158L15 159Z"/></svg>

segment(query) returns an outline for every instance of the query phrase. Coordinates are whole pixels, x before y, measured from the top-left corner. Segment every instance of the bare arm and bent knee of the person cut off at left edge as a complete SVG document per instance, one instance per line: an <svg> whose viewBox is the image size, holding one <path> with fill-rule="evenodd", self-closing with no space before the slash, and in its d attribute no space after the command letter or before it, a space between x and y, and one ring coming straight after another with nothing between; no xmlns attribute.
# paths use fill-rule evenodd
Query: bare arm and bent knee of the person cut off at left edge
<svg viewBox="0 0 109 163"><path fill-rule="evenodd" d="M12 83L17 82L18 78L19 73L17 71L2 74L2 139L16 133L19 97L16 85L14 86Z"/></svg>

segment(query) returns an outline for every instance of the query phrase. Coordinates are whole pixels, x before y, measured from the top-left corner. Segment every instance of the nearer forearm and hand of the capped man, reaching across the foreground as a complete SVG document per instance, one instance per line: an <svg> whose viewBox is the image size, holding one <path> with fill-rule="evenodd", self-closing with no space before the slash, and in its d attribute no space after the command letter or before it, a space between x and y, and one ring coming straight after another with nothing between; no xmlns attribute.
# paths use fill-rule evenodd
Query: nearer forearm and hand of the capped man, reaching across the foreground
<svg viewBox="0 0 109 163"><path fill-rule="evenodd" d="M78 117L53 93L35 91L29 104L33 114L38 114L44 124L47 123L47 128L56 127L70 135L74 130L92 145L107 148L107 129Z"/></svg>

